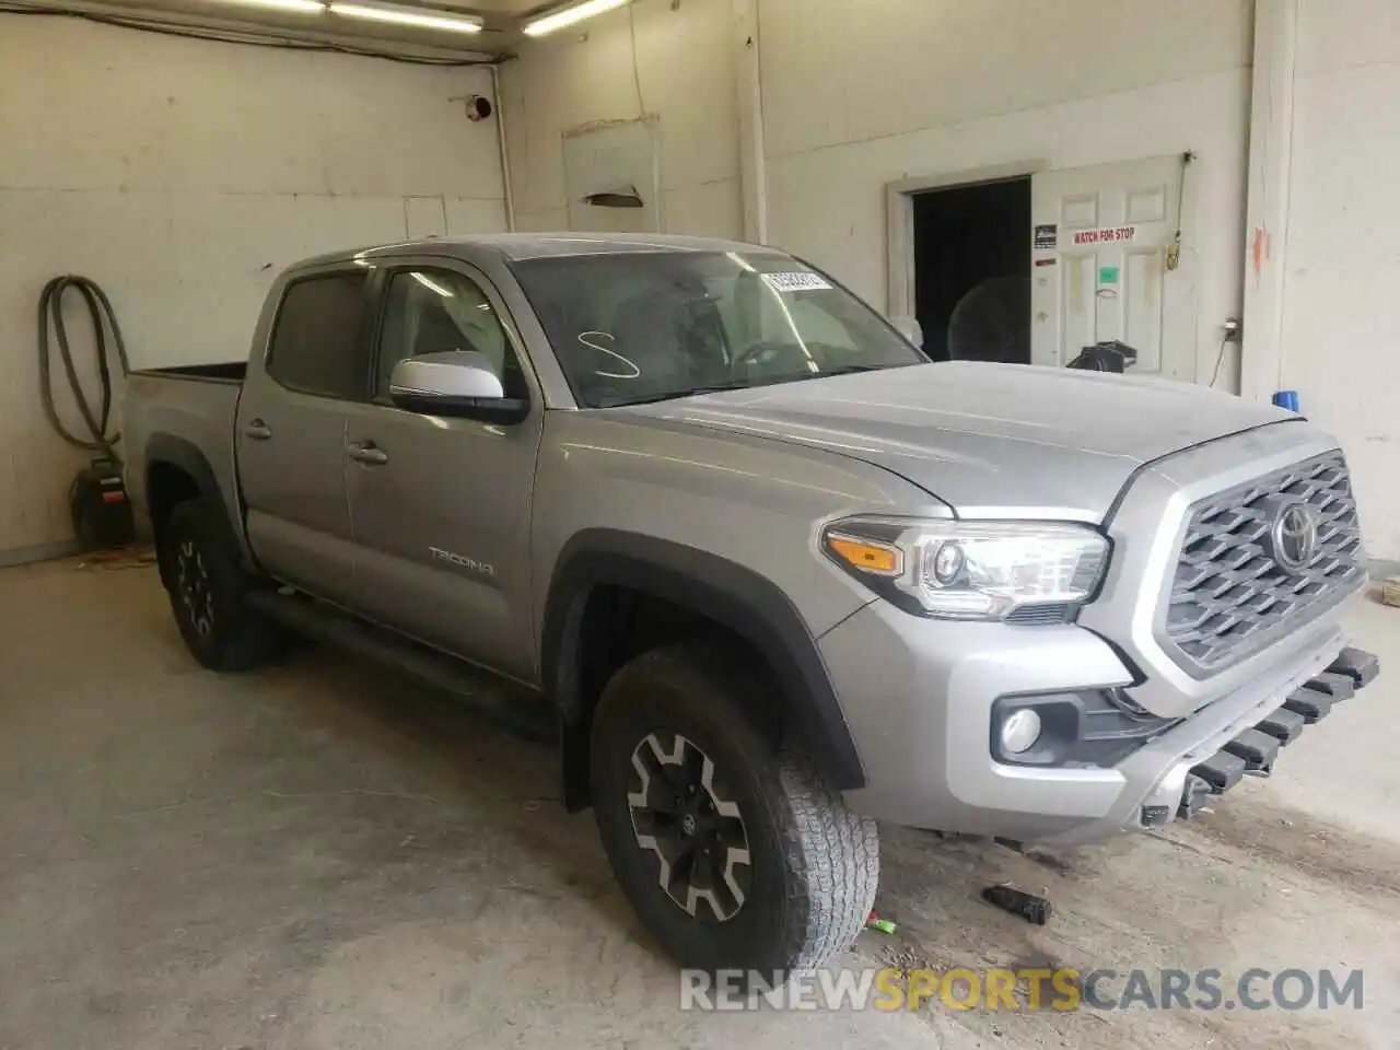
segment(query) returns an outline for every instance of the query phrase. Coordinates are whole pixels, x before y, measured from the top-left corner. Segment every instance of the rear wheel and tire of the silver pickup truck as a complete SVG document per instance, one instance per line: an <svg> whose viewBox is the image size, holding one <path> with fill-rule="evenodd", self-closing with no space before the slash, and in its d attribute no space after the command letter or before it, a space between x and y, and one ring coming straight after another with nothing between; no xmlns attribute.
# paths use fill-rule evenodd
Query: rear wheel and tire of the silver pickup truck
<svg viewBox="0 0 1400 1050"><path fill-rule="evenodd" d="M200 497L161 528L161 578L190 654L210 671L248 671L276 651L273 626L245 601L248 574L221 504Z"/></svg>

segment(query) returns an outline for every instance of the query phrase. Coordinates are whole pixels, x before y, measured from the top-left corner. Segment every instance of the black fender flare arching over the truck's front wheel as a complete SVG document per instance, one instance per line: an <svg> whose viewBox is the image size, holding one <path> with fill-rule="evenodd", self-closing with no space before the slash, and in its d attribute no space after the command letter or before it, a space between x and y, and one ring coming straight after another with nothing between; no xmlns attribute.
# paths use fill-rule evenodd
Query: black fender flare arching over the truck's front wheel
<svg viewBox="0 0 1400 1050"><path fill-rule="evenodd" d="M585 529L560 552L545 603L540 652L545 687L566 725L578 725L587 715L577 657L584 609L599 585L654 595L750 641L777 676L788 722L818 769L839 790L865 787L865 767L816 638L788 596L735 561L654 536Z"/></svg>

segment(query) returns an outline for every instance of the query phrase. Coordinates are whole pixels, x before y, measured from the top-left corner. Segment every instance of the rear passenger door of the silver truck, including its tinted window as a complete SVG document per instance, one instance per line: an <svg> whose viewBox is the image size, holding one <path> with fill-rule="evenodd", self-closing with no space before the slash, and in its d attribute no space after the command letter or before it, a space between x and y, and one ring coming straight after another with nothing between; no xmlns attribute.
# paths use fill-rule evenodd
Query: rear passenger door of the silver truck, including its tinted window
<svg viewBox="0 0 1400 1050"><path fill-rule="evenodd" d="M342 605L354 599L346 498L346 406L370 375L367 272L298 276L249 363L234 428L248 543L274 577Z"/></svg>

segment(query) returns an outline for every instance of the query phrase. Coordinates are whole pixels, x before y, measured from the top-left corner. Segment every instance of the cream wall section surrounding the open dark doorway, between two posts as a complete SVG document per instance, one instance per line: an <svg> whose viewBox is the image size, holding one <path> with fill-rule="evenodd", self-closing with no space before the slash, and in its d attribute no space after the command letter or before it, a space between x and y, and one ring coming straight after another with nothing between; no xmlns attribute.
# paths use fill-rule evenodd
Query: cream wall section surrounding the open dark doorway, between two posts
<svg viewBox="0 0 1400 1050"><path fill-rule="evenodd" d="M1191 150L1183 256L1210 381L1242 295L1249 0L861 7L760 0L770 238L883 308L886 183Z"/></svg>

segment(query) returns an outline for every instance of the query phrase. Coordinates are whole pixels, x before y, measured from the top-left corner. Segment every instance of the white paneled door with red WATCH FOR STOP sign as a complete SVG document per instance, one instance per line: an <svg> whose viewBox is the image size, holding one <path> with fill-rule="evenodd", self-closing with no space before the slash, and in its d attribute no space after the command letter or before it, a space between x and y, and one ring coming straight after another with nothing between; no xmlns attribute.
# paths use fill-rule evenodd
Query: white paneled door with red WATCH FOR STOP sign
<svg viewBox="0 0 1400 1050"><path fill-rule="evenodd" d="M1131 371L1196 378L1175 269L1182 157L1047 171L1030 182L1030 361L1063 368L1093 343L1138 353Z"/></svg>

